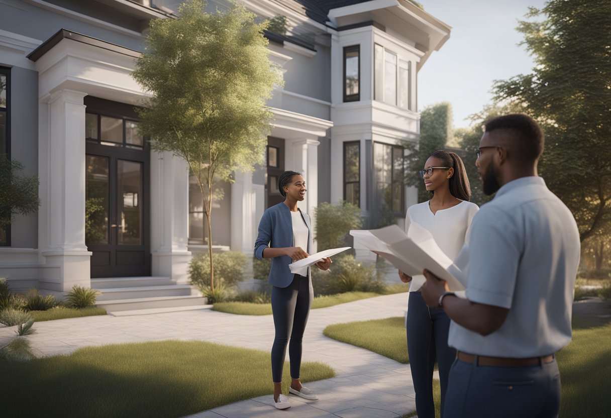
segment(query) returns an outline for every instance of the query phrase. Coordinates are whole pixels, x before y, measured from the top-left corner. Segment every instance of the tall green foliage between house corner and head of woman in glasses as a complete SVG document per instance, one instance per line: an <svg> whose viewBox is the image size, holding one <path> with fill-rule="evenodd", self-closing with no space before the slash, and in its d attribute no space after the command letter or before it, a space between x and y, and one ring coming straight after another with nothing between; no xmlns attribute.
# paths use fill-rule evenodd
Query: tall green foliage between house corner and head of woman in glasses
<svg viewBox="0 0 611 418"><path fill-rule="evenodd" d="M418 188L418 201L430 199L418 172L424 168L428 157L445 148L448 139L453 138L452 105L447 102L427 106L420 112L420 142L409 147L405 164L405 183Z"/></svg>

